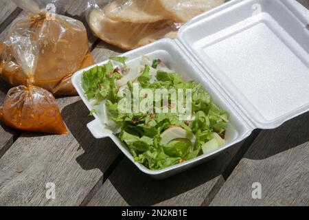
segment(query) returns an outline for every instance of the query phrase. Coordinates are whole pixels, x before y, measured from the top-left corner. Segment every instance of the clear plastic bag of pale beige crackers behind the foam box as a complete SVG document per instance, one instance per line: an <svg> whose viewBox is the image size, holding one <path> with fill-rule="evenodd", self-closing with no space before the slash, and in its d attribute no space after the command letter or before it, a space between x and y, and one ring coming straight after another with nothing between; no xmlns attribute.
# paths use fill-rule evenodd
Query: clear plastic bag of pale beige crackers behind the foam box
<svg viewBox="0 0 309 220"><path fill-rule="evenodd" d="M222 3L225 0L90 0L88 21L103 41L132 50L176 38L183 23Z"/></svg>

